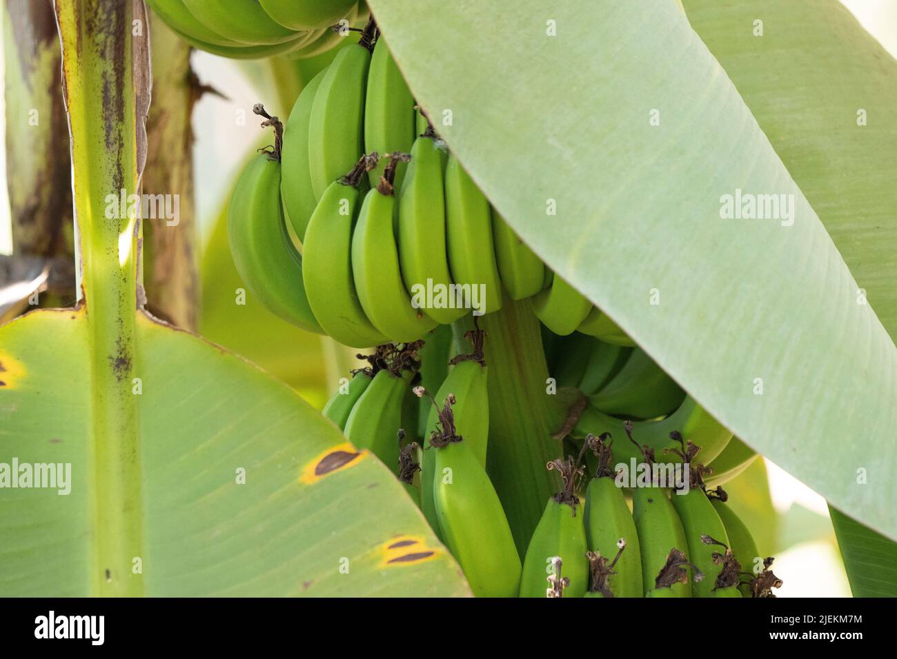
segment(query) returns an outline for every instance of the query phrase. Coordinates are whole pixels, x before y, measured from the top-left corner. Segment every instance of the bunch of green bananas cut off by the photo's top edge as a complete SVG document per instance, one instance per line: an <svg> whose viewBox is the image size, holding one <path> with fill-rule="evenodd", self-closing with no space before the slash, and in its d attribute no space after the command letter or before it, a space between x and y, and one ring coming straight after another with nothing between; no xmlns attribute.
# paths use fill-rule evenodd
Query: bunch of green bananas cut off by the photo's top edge
<svg viewBox="0 0 897 659"><path fill-rule="evenodd" d="M311 57L368 20L363 0L147 0L171 30L214 55Z"/></svg>

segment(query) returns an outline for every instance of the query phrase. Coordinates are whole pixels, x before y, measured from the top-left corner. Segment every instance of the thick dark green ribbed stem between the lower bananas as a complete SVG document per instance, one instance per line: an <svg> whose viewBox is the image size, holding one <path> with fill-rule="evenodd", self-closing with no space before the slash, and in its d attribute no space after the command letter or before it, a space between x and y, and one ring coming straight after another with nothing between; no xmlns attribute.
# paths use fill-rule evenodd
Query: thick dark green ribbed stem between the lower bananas
<svg viewBox="0 0 897 659"><path fill-rule="evenodd" d="M505 297L501 309L479 323L489 369L486 470L523 556L545 502L558 490L545 464L562 455L562 444L551 437L542 334L527 300Z"/></svg>

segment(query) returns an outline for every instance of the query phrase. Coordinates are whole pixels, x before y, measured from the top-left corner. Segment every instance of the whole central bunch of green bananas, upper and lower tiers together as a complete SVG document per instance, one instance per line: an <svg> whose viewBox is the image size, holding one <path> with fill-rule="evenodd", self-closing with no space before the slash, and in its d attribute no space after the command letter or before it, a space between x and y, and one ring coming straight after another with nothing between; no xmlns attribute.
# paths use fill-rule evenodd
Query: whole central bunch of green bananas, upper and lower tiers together
<svg viewBox="0 0 897 659"><path fill-rule="evenodd" d="M517 238L415 113L372 22L309 82L285 128L255 112L274 144L250 160L231 198L239 273L294 325L378 346L324 413L396 473L475 594L771 596L780 585L771 559L756 555L718 487L756 454ZM459 328L470 309L416 303L424 282L482 286L483 312L503 295L530 299L558 398L570 402L555 438L579 455L548 464L562 487L522 564L486 471L484 333L467 332L473 350L448 360L449 324ZM630 441L612 451L613 437ZM699 446L709 467L694 463ZM617 482L614 458L653 468L655 455L689 467L683 493Z"/></svg>

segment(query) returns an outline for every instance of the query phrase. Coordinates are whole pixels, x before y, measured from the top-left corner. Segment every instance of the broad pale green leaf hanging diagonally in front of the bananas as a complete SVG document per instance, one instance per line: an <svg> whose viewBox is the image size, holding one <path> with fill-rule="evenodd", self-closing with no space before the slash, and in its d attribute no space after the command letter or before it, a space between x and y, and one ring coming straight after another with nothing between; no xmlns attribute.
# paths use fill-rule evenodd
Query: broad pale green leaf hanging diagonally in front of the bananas
<svg viewBox="0 0 897 659"><path fill-rule="evenodd" d="M893 59L835 0L788 4L835 23L838 57L877 60L850 71L863 89L897 88ZM830 208L808 202L675 0L513 12L422 0L414 22L399 0L370 6L415 97L521 238L746 444L897 538L897 350L872 308L886 299L858 294L817 215ZM868 100L850 89L819 100L852 108L845 131ZM877 130L876 162L897 126ZM817 169L841 171L830 156ZM897 163L882 161L893 181ZM852 178L846 204L880 217ZM786 195L790 212L723 219L741 192Z"/></svg>

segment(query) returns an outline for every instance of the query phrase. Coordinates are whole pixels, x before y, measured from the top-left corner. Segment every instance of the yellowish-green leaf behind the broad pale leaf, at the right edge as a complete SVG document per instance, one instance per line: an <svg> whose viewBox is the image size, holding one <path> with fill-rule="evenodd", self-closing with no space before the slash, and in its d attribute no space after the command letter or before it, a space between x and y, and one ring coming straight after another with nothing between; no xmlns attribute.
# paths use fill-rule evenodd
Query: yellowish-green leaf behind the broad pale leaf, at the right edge
<svg viewBox="0 0 897 659"><path fill-rule="evenodd" d="M685 10L897 337L893 58L836 2L820 12L815 2L685 0ZM864 538L881 552L887 541L846 516L833 512L832 522L854 594L897 595L897 580L865 578L866 550L856 546Z"/></svg>

